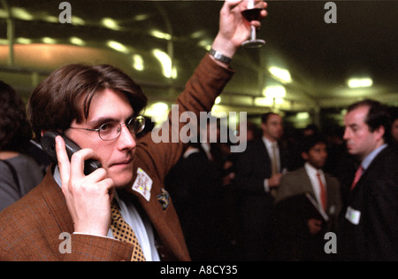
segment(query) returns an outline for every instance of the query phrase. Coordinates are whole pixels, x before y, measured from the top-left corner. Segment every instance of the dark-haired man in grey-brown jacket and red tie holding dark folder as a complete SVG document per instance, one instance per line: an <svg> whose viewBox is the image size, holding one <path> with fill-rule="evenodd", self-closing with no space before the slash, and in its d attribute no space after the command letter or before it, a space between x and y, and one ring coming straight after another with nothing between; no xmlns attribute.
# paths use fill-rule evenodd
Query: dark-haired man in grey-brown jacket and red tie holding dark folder
<svg viewBox="0 0 398 279"><path fill-rule="evenodd" d="M333 253L325 252L324 236L326 232L336 233L341 211L340 183L322 169L327 151L321 136L307 136L301 145L304 167L282 177L275 199L275 260L334 260ZM306 194L327 220L318 214Z"/></svg>

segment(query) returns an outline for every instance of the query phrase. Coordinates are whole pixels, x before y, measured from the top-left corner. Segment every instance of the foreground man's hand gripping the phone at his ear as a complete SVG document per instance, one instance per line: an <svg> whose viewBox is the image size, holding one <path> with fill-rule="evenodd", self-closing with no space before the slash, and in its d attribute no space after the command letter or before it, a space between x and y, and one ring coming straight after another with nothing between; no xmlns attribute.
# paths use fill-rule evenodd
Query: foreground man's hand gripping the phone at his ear
<svg viewBox="0 0 398 279"><path fill-rule="evenodd" d="M62 192L73 220L74 232L107 236L114 182L102 167L88 175L83 172L85 162L95 158L96 152L91 149L74 152L74 146L65 142L65 136L55 137L55 151ZM72 159L69 159L70 153L73 154Z"/></svg>

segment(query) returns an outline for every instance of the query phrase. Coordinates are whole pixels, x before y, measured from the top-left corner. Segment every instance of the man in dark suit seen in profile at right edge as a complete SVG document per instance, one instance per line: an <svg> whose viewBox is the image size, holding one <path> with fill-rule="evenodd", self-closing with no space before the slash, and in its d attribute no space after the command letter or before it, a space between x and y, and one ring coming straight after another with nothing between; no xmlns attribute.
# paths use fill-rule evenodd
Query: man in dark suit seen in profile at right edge
<svg viewBox="0 0 398 279"><path fill-rule="evenodd" d="M364 100L344 117L347 148L360 162L341 211L341 260L398 260L398 151L387 107Z"/></svg>

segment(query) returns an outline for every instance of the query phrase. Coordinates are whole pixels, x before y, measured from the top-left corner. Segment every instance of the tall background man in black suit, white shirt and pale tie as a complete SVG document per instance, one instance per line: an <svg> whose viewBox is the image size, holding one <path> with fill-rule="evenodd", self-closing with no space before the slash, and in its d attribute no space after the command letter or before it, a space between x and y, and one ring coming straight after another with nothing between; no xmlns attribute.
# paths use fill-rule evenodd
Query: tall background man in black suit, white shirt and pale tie
<svg viewBox="0 0 398 279"><path fill-rule="evenodd" d="M240 190L241 260L271 260L272 192L278 188L280 177L287 168L287 153L278 144L283 135L282 118L274 112L265 113L261 128L263 137L249 142L246 151L236 161L236 182Z"/></svg>

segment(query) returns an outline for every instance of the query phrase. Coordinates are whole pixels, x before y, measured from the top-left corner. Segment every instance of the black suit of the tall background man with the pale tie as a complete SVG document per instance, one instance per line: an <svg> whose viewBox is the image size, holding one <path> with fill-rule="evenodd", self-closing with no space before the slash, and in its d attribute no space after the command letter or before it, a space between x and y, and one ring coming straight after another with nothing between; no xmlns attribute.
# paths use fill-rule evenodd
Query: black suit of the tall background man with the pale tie
<svg viewBox="0 0 398 279"><path fill-rule="evenodd" d="M287 152L279 144L280 167L287 167ZM239 191L242 260L269 258L274 198L265 192L264 180L272 174L271 159L263 140L248 143L236 160L236 186Z"/></svg>

